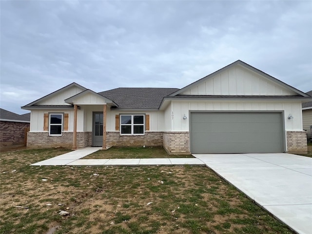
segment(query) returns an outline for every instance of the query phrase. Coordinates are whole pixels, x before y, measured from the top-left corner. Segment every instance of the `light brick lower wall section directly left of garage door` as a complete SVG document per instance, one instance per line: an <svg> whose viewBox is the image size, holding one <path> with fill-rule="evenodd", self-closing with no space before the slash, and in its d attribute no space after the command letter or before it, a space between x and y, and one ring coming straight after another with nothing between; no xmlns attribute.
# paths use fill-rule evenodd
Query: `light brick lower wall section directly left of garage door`
<svg viewBox="0 0 312 234"><path fill-rule="evenodd" d="M170 155L190 154L189 132L164 132L163 147Z"/></svg>

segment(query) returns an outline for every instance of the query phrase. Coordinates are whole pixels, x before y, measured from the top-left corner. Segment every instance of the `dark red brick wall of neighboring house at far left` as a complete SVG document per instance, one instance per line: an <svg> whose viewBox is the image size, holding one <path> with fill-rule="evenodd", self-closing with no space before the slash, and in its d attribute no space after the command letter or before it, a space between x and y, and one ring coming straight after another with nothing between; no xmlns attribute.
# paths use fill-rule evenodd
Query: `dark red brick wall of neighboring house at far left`
<svg viewBox="0 0 312 234"><path fill-rule="evenodd" d="M29 123L0 121L0 147L1 149L14 148L24 145L25 128Z"/></svg>

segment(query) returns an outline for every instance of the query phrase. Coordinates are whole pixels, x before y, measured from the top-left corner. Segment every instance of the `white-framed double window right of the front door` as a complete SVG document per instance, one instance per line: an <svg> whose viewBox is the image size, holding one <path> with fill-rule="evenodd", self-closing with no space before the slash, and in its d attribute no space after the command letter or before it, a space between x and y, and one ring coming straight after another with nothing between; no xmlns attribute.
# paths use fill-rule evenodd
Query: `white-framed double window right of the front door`
<svg viewBox="0 0 312 234"><path fill-rule="evenodd" d="M120 134L144 134L144 115L120 115Z"/></svg>

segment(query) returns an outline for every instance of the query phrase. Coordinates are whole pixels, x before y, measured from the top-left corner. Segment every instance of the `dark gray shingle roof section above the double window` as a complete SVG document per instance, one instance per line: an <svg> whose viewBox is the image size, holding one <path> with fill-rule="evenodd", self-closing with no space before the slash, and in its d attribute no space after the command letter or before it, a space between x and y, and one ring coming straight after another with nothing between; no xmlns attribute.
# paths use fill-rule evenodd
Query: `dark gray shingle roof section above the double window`
<svg viewBox="0 0 312 234"><path fill-rule="evenodd" d="M98 94L117 103L118 109L158 109L162 98L176 88L117 88Z"/></svg>

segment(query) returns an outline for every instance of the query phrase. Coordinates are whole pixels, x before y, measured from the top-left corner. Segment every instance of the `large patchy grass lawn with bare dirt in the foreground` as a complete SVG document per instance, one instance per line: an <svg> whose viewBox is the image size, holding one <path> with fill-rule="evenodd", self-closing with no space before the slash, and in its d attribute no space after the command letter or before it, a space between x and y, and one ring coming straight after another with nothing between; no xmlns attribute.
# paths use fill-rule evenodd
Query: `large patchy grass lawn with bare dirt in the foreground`
<svg viewBox="0 0 312 234"><path fill-rule="evenodd" d="M1 154L1 234L293 234L206 167L29 166L66 152Z"/></svg>

